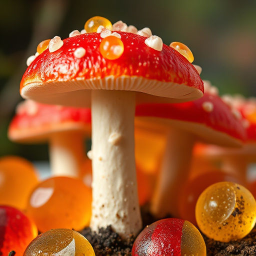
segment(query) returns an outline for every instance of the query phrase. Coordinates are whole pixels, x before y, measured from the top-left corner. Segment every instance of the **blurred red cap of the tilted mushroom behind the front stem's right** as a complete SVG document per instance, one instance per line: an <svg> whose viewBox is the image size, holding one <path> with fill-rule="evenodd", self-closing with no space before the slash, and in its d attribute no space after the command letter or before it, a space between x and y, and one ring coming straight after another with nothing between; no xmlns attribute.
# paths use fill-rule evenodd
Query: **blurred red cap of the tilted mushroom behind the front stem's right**
<svg viewBox="0 0 256 256"><path fill-rule="evenodd" d="M240 145L246 133L241 119L215 94L205 92L194 101L172 104L141 104L136 116L167 123L195 134L202 141L224 146Z"/></svg>

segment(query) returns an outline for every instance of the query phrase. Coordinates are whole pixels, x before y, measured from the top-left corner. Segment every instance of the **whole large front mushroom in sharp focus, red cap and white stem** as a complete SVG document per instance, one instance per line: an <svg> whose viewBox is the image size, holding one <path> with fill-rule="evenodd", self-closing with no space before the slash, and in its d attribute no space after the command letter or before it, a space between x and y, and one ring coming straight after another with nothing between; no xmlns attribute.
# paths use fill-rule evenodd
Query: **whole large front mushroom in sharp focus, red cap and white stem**
<svg viewBox="0 0 256 256"><path fill-rule="evenodd" d="M85 28L88 33L64 39L55 51L44 50L23 74L20 93L44 103L91 106L90 227L97 232L111 225L125 239L142 226L134 159L135 105L195 99L202 96L203 83L193 65L158 36L125 32L120 22L118 27L122 31L108 36L102 27L98 32ZM76 54L77 49L82 54Z"/></svg>

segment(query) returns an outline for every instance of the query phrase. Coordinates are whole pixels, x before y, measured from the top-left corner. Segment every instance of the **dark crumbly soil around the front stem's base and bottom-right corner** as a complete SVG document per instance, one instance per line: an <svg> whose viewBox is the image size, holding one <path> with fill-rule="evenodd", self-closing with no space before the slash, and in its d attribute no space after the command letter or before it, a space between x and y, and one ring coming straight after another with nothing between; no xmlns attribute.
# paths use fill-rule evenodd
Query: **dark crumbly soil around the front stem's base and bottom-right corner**
<svg viewBox="0 0 256 256"><path fill-rule="evenodd" d="M156 220L148 211L142 209L143 226ZM130 236L127 241L122 241L118 233L112 231L110 226L100 228L98 234L91 232L89 227L81 233L91 243L96 256L131 256L131 248L135 239L133 236ZM256 256L256 227L243 239L236 241L219 242L205 235L203 238L207 256Z"/></svg>

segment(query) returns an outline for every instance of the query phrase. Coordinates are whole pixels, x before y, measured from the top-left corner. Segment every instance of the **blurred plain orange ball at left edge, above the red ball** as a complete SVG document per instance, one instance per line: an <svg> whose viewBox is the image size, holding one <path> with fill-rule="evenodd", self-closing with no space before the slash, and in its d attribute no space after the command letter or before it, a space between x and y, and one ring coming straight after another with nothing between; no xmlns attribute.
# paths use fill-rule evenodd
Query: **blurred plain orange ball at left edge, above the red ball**
<svg viewBox="0 0 256 256"><path fill-rule="evenodd" d="M37 171L28 160L19 156L0 158L0 204L23 210L38 182Z"/></svg>

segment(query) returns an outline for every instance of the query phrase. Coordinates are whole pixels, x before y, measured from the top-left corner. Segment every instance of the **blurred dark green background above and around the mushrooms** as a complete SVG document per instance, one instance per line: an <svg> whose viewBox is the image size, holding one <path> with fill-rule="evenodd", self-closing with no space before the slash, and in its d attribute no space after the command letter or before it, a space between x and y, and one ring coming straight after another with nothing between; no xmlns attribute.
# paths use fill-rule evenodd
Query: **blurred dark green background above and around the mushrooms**
<svg viewBox="0 0 256 256"><path fill-rule="evenodd" d="M26 58L55 35L68 37L95 15L149 27L165 44L185 43L220 94L256 96L255 0L0 0L0 156L47 160L47 145L10 142L7 127Z"/></svg>

